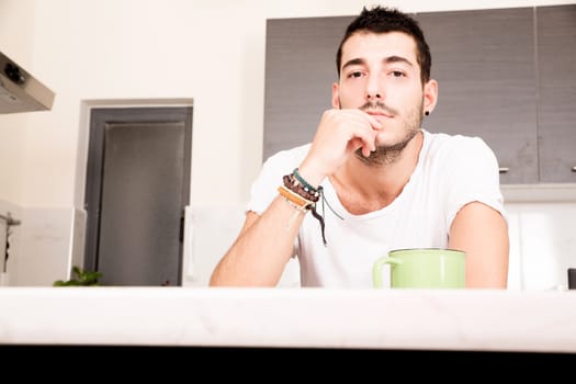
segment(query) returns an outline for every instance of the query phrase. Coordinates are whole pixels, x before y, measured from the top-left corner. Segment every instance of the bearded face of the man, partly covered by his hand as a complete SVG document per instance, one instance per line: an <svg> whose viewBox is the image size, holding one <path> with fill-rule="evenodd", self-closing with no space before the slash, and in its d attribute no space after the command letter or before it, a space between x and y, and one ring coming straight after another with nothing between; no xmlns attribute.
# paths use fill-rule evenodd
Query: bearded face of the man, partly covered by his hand
<svg viewBox="0 0 576 384"><path fill-rule="evenodd" d="M357 33L342 46L341 63L332 106L374 115L382 123L376 136L376 147L382 150L414 137L423 114L414 39L399 32Z"/></svg>

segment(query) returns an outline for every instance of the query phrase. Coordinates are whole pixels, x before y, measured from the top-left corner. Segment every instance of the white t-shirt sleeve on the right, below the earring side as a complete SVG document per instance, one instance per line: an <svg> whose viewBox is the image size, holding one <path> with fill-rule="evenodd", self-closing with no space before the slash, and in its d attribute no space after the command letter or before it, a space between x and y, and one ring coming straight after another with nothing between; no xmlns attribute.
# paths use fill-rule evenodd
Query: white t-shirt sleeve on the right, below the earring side
<svg viewBox="0 0 576 384"><path fill-rule="evenodd" d="M445 166L447 228L466 204L481 202L506 217L500 191L498 161L494 151L479 137L459 136L450 145Z"/></svg>

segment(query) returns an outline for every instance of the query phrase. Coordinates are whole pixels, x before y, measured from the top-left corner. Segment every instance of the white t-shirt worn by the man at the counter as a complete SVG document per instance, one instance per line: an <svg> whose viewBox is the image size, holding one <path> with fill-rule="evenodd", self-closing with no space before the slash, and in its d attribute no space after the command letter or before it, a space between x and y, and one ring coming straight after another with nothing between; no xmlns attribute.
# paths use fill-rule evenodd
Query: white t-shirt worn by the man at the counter
<svg viewBox="0 0 576 384"><path fill-rule="evenodd" d="M423 144L413 176L396 200L380 211L350 214L329 179L324 180L327 246L323 244L319 222L306 214L295 244L302 286L371 287L372 266L389 250L445 248L454 216L470 202L482 202L505 215L498 163L485 142L479 137L422 133ZM252 184L248 211L266 211L278 195L282 177L300 166L309 146L280 151L264 161ZM323 214L321 200L316 211ZM389 286L389 273L385 271L383 286Z"/></svg>

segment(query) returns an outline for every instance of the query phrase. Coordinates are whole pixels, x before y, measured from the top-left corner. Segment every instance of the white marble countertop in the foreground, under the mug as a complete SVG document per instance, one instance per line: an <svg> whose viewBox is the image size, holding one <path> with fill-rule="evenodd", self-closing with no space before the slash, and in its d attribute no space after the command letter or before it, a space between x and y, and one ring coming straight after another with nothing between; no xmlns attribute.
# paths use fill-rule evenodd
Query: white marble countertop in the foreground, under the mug
<svg viewBox="0 0 576 384"><path fill-rule="evenodd" d="M0 345L576 353L576 291L4 287Z"/></svg>

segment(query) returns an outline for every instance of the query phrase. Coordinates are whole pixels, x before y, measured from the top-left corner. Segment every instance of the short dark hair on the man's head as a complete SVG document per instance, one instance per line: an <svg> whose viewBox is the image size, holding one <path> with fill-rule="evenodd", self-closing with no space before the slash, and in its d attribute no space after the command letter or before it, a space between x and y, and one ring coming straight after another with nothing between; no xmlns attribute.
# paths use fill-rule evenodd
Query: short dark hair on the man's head
<svg viewBox="0 0 576 384"><path fill-rule="evenodd" d="M338 53L336 54L338 78L340 78L340 66L342 64L342 46L351 35L359 31L372 33L403 32L411 36L416 42L416 59L420 66L420 80L422 84L430 80L432 56L430 55L430 48L428 47L428 43L426 43L420 25L408 14L394 8L381 5L373 7L372 9L364 7L360 15L348 25L346 34L338 47Z"/></svg>

